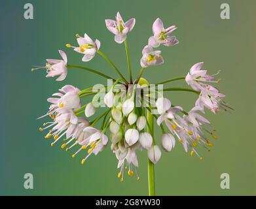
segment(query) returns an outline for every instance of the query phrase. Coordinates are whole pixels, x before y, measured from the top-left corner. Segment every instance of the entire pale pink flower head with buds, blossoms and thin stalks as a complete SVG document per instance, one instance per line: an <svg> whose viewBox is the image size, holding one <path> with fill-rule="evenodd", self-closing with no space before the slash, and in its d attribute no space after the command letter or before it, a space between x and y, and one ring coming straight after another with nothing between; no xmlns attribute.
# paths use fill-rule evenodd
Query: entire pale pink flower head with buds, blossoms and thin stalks
<svg viewBox="0 0 256 209"><path fill-rule="evenodd" d="M196 154L199 159L202 159L196 151L196 146L199 144L209 150L213 146L209 136L217 138L210 121L201 115L204 114L204 108L210 109L214 114L230 108L223 101L225 95L210 85L219 83L219 80L214 78L216 74L208 75L206 70L202 70L202 62L193 65L186 77L159 82L158 88L142 78L145 68L164 63L161 51L154 50L154 48L161 45L174 46L179 43L176 37L172 36L172 32L177 27L172 25L164 28L160 18L153 23L153 36L149 38L142 51L141 71L133 80L126 38L135 23L135 18L124 22L119 12L116 20L105 20L107 29L115 35L115 42L125 44L130 82L122 76L113 61L100 51L100 40L93 41L86 33L84 37L76 35L79 46L71 44L66 44L66 46L83 54L82 61L84 62L90 61L96 54L99 54L117 72L118 79L88 67L67 64L67 56L62 50L59 51L62 59L46 59L45 66L32 69L32 71L46 69L46 77L58 76L58 81L64 80L67 70L72 68L94 72L110 79L111 84L107 86L97 85L80 90L66 85L59 89L58 93L54 93L53 97L48 99L51 103L48 112L40 117L50 116L50 121L43 123L43 127L39 130L48 131L45 138L53 138L52 146L62 140L60 147L66 151L74 150L72 157L85 150L86 154L81 159L82 164L92 153L97 155L101 152L110 141L111 150L118 160L117 176L121 182L124 180L125 170L129 176L136 176L139 180L136 171L139 166L138 150L146 150L149 160L155 164L161 157L161 150L170 152L174 149L177 140L183 145L185 152L190 150L191 155ZM185 80L192 89L163 88L162 84L174 80ZM176 90L191 91L199 95L190 111L186 112L181 106L172 105L171 101L163 95L164 91ZM81 99L90 96L93 96L90 102L82 104ZM97 112L101 107L107 110L98 115ZM153 134L154 118L162 131L159 143Z"/></svg>

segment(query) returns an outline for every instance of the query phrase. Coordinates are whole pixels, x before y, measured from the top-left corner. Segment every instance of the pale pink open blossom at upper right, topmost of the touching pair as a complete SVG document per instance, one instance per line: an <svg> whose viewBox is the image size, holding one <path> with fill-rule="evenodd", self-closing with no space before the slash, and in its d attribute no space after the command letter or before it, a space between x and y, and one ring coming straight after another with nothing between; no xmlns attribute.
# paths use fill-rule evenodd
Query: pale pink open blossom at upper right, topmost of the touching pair
<svg viewBox="0 0 256 209"><path fill-rule="evenodd" d="M172 31L177 29L175 25L164 28L164 24L160 18L157 18L153 24L154 35L149 38L149 46L158 47L160 44L164 46L174 46L179 43L175 36L171 36Z"/></svg>

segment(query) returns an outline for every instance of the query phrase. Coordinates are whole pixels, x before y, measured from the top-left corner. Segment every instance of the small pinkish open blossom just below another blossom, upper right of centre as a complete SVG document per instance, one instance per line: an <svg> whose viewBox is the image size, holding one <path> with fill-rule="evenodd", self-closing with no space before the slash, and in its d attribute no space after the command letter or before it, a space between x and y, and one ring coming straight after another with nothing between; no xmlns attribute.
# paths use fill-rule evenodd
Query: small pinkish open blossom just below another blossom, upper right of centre
<svg viewBox="0 0 256 209"><path fill-rule="evenodd" d="M164 59L161 56L161 51L154 51L151 46L145 46L142 50L141 67L148 67L150 65L161 65Z"/></svg>

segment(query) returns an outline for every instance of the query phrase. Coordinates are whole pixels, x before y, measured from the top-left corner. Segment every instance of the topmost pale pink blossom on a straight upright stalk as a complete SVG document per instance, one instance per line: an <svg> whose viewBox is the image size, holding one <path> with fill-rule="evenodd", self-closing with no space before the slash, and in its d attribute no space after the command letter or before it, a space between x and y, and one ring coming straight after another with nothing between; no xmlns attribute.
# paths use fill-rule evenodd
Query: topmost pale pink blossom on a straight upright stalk
<svg viewBox="0 0 256 209"><path fill-rule="evenodd" d="M115 42L122 44L124 40L126 40L126 34L134 28L135 25L135 18L132 18L128 20L127 22L124 22L122 20L122 16L119 12L117 12L116 21L115 20L105 20L105 24L107 26L107 29L111 33L115 34Z"/></svg>

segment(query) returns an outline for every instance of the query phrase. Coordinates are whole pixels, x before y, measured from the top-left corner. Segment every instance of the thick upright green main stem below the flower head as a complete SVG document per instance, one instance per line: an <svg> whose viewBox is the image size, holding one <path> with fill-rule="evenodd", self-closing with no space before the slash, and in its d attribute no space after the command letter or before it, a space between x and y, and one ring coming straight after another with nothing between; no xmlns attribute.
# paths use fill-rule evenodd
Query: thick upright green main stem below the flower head
<svg viewBox="0 0 256 209"><path fill-rule="evenodd" d="M154 140L154 118L149 110L147 110L147 122L148 127L147 131L151 133L153 137L153 144L155 145ZM148 183L149 183L149 196L155 196L155 165L151 162L151 160L147 159L147 176L148 176Z"/></svg>

